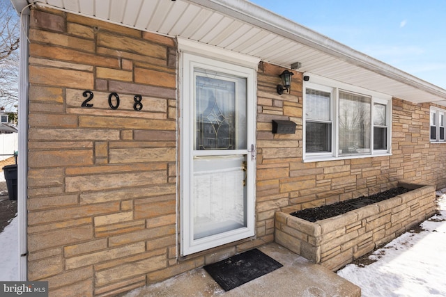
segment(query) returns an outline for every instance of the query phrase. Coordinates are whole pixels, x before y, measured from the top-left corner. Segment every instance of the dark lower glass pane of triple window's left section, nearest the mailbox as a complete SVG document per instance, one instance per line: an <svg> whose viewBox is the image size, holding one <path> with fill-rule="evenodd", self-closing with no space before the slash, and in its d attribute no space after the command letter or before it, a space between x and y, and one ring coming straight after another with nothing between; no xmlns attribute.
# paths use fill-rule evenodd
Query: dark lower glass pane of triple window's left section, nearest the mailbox
<svg viewBox="0 0 446 297"><path fill-rule="evenodd" d="M306 122L305 150L307 152L332 151L332 125L325 122Z"/></svg>

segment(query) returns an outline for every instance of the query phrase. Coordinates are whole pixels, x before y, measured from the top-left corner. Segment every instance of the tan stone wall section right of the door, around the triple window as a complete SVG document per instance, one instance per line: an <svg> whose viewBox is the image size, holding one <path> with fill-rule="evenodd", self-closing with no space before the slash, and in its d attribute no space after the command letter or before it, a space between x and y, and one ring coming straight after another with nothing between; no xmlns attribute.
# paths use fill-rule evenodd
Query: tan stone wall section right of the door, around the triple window
<svg viewBox="0 0 446 297"><path fill-rule="evenodd" d="M261 63L258 74L258 215L291 212L371 195L399 181L446 186L446 143L429 143L429 104L392 101L392 156L302 162L302 74L291 94L275 93L284 68ZM272 120L292 120L295 134L272 134ZM288 211L291 210L291 211Z"/></svg>

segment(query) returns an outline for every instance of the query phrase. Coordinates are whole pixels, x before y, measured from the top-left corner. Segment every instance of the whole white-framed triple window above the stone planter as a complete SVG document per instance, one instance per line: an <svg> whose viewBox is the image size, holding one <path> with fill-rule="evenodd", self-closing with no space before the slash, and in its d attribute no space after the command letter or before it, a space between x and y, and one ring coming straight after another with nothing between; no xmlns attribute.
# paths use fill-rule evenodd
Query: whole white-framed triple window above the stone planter
<svg viewBox="0 0 446 297"><path fill-rule="evenodd" d="M391 154L392 97L305 75L304 161Z"/></svg>

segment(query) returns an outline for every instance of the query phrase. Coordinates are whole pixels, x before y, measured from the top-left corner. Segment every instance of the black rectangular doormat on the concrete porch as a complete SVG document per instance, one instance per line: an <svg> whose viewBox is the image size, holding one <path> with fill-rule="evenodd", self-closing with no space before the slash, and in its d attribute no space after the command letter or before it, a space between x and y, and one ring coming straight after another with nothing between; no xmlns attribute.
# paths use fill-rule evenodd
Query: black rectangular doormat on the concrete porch
<svg viewBox="0 0 446 297"><path fill-rule="evenodd" d="M229 291L282 266L255 248L203 268L224 291Z"/></svg>

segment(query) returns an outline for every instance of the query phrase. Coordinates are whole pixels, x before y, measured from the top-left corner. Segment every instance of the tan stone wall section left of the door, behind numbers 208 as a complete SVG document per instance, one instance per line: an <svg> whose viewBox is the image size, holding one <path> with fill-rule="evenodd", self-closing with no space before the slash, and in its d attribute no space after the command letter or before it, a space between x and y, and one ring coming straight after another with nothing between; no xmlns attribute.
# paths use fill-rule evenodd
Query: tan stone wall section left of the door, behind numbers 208
<svg viewBox="0 0 446 297"><path fill-rule="evenodd" d="M174 40L44 8L29 40L29 280L104 296L201 266L177 262Z"/></svg>

